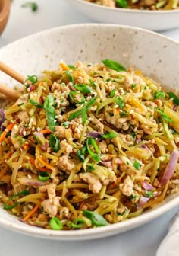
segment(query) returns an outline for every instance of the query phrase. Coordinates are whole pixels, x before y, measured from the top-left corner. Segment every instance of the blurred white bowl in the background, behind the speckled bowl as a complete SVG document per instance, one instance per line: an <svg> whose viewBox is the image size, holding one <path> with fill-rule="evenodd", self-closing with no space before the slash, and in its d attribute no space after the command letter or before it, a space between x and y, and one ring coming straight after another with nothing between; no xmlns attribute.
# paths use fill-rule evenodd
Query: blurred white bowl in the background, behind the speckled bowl
<svg viewBox="0 0 179 256"><path fill-rule="evenodd" d="M68 0L68 2L94 21L142 27L154 31L169 30L179 27L179 9L170 11L147 11L110 8L86 2L85 0Z"/></svg>

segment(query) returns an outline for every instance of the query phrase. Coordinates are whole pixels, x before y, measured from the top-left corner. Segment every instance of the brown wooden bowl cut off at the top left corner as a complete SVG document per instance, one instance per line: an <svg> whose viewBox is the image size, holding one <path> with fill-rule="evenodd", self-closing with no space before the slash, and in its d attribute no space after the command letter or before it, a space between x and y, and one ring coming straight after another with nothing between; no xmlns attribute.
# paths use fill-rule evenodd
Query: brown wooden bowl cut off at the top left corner
<svg viewBox="0 0 179 256"><path fill-rule="evenodd" d="M0 34L5 29L10 13L11 0L0 0Z"/></svg>

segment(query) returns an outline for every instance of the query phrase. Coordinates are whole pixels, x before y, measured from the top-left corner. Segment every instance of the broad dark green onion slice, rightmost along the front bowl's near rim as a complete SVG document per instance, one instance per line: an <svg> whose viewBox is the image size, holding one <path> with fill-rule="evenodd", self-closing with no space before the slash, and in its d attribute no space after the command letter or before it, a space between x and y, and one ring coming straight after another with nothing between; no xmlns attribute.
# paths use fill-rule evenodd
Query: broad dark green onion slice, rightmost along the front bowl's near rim
<svg viewBox="0 0 179 256"><path fill-rule="evenodd" d="M99 213L95 213L89 210L83 210L83 216L89 219L94 226L107 226L108 222Z"/></svg>

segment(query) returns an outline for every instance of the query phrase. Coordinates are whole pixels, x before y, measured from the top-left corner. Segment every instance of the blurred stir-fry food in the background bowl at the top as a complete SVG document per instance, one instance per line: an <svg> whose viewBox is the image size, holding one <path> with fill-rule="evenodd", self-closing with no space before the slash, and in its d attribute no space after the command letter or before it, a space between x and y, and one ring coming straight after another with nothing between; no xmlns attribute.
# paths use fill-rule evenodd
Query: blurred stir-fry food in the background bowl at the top
<svg viewBox="0 0 179 256"><path fill-rule="evenodd" d="M179 1L176 0L86 0L97 5L104 5L111 8L131 8L143 10L174 10L179 8Z"/></svg>

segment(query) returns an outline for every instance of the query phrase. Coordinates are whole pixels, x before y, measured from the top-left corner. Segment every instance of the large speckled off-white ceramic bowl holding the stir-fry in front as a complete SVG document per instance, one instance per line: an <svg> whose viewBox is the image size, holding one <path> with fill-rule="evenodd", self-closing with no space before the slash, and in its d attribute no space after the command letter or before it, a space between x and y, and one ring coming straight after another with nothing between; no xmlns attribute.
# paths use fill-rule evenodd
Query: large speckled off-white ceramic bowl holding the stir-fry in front
<svg viewBox="0 0 179 256"><path fill-rule="evenodd" d="M179 88L179 44L159 34L135 27L111 24L78 24L57 27L18 40L0 49L0 59L22 75L39 75L56 69L61 59L100 62L115 59L126 67L137 67L171 89ZM1 72L1 82L15 85ZM115 235L133 229L179 205L178 194L157 208L134 219L96 229L54 231L28 226L0 209L0 225L17 232L58 240L83 240Z"/></svg>

